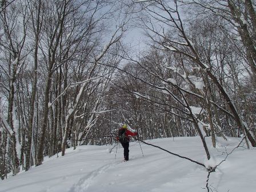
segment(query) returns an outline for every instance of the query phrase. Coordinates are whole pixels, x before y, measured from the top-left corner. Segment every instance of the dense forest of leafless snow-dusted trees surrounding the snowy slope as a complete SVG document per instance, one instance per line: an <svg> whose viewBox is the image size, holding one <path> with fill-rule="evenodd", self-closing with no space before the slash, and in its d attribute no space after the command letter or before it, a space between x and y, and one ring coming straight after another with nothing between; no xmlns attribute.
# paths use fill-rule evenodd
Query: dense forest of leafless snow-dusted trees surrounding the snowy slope
<svg viewBox="0 0 256 192"><path fill-rule="evenodd" d="M139 139L241 137L256 146L251 0L15 0L0 7L0 177ZM127 42L143 31L143 50Z"/></svg>

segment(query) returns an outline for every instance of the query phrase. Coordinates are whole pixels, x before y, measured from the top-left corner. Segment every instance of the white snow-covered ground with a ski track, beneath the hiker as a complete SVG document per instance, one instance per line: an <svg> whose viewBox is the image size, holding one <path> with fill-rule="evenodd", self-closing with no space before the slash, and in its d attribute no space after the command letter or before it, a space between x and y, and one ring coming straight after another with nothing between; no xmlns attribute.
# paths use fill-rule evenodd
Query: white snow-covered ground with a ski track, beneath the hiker
<svg viewBox="0 0 256 192"><path fill-rule="evenodd" d="M217 150L209 147L216 163L238 145L238 138L224 142L218 138ZM199 137L165 138L147 141L195 161L205 163L206 155ZM210 146L210 141L208 142ZM122 162L123 148L109 153L112 146L79 146L64 157L45 159L5 181L0 192L178 192L207 191L207 171L202 166L160 149L138 142L130 143L130 161ZM223 153L224 152L224 153ZM256 149L239 147L211 173L210 191L254 192L256 190Z"/></svg>

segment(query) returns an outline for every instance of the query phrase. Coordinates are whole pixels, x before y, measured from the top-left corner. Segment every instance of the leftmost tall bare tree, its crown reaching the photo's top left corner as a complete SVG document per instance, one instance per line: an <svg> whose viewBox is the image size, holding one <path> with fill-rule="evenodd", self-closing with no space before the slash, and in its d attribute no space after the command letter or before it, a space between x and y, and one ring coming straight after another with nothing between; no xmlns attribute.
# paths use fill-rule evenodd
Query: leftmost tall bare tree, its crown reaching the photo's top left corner
<svg viewBox="0 0 256 192"><path fill-rule="evenodd" d="M9 10L10 9L10 10ZM11 12L10 12L11 11ZM14 121L15 117L15 83L19 71L22 68L23 61L26 53L22 53L24 50L27 30L27 5L26 3L12 3L9 7L5 4L2 7L1 12L1 25L3 26L3 36L1 41L1 47L6 51L3 52L6 58L5 63L2 65L6 78L8 79L9 85L6 86L8 90L8 115L7 121L4 124L5 128L8 129L9 138L11 139L11 150L13 154L13 174L19 171L19 157L18 149L18 133L17 125ZM21 22L17 22L21 21ZM21 31L19 29L22 29ZM4 119L5 117L2 116ZM3 120L5 121L5 120Z"/></svg>

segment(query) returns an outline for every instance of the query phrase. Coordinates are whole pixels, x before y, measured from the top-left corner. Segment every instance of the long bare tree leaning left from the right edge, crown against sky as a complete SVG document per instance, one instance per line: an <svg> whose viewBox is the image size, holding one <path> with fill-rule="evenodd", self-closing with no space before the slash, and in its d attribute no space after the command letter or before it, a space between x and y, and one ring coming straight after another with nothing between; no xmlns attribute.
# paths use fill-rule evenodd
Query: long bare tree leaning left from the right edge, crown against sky
<svg viewBox="0 0 256 192"><path fill-rule="evenodd" d="M177 1L173 1L173 3L171 3L171 1L151 2L154 3L145 6L142 5L142 9L146 11L147 14L145 17L148 18L147 21L145 18L142 18L141 20L143 25L146 27L147 35L152 39L152 41L157 42L158 45L162 45L167 50L184 55L190 59L191 62L205 70L207 76L211 79L214 85L217 86L223 99L225 99L239 129L244 130L251 145L256 146L255 139L251 136L248 127L243 123L234 102L231 101L229 94L210 69L210 66L203 61L203 58L198 52L197 47L195 47L194 42L191 41L191 37L186 31L186 27L183 25L183 21L179 13L179 7L182 6L182 4L178 4ZM165 15L159 13L165 13ZM162 26L156 26L153 20L161 23ZM167 31L172 32L172 37L170 37L170 33Z"/></svg>

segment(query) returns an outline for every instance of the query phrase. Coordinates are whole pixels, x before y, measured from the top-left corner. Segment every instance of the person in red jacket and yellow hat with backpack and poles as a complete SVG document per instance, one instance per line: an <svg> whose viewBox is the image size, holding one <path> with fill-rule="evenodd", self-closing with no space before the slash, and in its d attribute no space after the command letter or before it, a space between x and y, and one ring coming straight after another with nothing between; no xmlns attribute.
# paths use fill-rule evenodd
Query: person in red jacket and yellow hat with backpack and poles
<svg viewBox="0 0 256 192"><path fill-rule="evenodd" d="M125 159L123 161L129 160L129 136L135 136L138 135L137 132L131 132L127 129L127 125L124 124L121 129L118 130L118 137L117 140L122 144L123 146L123 156Z"/></svg>

